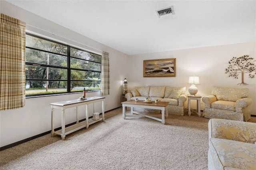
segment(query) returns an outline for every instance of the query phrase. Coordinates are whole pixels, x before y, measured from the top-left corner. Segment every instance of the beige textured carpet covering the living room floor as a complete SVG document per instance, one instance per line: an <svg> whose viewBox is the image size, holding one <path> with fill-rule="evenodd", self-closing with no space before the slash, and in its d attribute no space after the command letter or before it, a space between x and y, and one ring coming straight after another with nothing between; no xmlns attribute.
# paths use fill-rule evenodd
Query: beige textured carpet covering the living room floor
<svg viewBox="0 0 256 170"><path fill-rule="evenodd" d="M122 119L122 109L68 134L50 134L0 152L3 170L207 170L208 121L192 114ZM251 122L256 122L252 117Z"/></svg>

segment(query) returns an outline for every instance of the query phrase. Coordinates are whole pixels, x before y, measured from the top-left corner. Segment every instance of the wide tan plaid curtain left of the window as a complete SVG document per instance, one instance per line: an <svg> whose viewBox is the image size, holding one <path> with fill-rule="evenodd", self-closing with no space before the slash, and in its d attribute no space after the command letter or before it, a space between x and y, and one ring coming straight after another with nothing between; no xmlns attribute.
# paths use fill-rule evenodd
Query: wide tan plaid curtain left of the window
<svg viewBox="0 0 256 170"><path fill-rule="evenodd" d="M25 29L25 22L1 14L0 111L25 105Z"/></svg>

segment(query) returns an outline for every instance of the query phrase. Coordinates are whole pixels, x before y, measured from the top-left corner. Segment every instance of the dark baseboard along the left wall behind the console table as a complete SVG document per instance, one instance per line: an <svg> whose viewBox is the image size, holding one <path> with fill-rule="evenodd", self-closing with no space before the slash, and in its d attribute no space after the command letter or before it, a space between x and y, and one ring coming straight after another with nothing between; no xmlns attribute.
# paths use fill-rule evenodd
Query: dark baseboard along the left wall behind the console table
<svg viewBox="0 0 256 170"><path fill-rule="evenodd" d="M111 109L111 110L106 111L106 112L104 112L104 113L108 113L108 112L110 112L110 111L114 111L114 110L119 109L119 108L120 108L120 107L117 107L117 108L115 108L115 109ZM100 113L100 115L102 115L102 113ZM89 119L90 119L90 118L92 118L92 116L89 117ZM85 120L86 120L86 119L82 119L82 120L79 120L79 122L82 122L82 121L85 121ZM70 124L66 125L65 127L69 127L69 126L74 125L74 124L76 124L76 122L70 123ZM56 130L60 130L60 129L61 129L61 127L58 127L58 128L55 128L54 130L56 131ZM39 137L41 137L41 136L44 136L44 135L46 135L46 134L49 134L51 131L52 131L52 130L49 130L49 131L47 131L47 132L43 132L43 133L41 133L41 134L37 134L37 135L35 135L35 136L32 136L32 137L29 137L29 138L20 140L20 141L18 141L18 142L14 142L14 143L12 143L12 144L8 144L8 145L6 145L6 146L2 146L2 147L0 147L0 151L6 150L6 149L8 149L8 148L12 148L12 147L14 147L14 146L17 146L17 145L19 145L19 144L28 142L28 141L33 140L33 139L35 139L35 138L39 138Z"/></svg>

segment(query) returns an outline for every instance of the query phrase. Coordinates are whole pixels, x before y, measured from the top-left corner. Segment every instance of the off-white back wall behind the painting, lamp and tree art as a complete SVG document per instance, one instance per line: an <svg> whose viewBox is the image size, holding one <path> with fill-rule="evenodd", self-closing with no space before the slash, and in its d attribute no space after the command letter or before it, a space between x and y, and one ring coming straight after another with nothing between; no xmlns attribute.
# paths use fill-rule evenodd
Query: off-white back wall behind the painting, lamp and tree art
<svg viewBox="0 0 256 170"><path fill-rule="evenodd" d="M246 73L244 74L244 82L248 85L240 86L237 84L242 81L241 75L238 79L234 79L225 74L228 61L232 57L242 55L249 55L256 60L256 42L130 55L131 67L126 77L129 82L128 89L146 85L186 86L186 93L189 94L188 77L196 75L200 77L200 85L196 85L196 87L198 88L198 95L201 96L210 95L212 86L247 87L250 91L249 97L254 101L250 109L252 115L256 115L256 78L250 79L249 74ZM176 77L143 77L143 60L165 58L176 58ZM193 101L193 103L195 102ZM204 109L204 105L201 106L201 109ZM192 105L192 107L196 109L196 105Z"/></svg>

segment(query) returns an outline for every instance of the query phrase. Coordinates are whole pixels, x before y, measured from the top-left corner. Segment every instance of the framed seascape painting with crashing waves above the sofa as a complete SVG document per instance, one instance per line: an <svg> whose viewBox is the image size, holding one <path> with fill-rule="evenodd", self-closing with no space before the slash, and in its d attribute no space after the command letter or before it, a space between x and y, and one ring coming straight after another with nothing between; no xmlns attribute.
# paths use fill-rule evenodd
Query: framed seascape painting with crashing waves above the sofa
<svg viewBox="0 0 256 170"><path fill-rule="evenodd" d="M143 77L176 77L176 58L144 60Z"/></svg>

